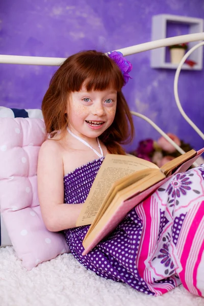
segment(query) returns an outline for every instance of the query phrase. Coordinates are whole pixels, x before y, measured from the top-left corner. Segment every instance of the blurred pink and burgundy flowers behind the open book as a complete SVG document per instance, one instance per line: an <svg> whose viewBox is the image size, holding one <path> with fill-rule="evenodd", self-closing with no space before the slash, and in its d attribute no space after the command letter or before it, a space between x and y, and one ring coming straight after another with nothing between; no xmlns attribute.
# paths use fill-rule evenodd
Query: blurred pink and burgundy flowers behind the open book
<svg viewBox="0 0 204 306"><path fill-rule="evenodd" d="M167 135L185 152L192 149L190 144L180 140L176 135L171 133L167 133ZM163 136L157 141L150 138L140 141L137 149L132 151L130 154L150 161L158 167L162 167L165 163L181 155L181 153L177 151ZM203 161L204 160L201 158L199 164L203 163Z"/></svg>

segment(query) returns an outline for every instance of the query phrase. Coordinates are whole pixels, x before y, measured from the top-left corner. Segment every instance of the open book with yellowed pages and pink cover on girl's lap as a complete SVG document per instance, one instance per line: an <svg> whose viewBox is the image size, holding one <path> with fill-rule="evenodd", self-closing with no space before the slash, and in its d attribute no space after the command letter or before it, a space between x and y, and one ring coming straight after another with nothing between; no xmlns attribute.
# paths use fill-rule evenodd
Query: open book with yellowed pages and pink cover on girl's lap
<svg viewBox="0 0 204 306"><path fill-rule="evenodd" d="M186 171L204 148L181 155L159 168L130 155L108 154L95 177L76 226L91 224L84 238L87 254L125 215L175 172Z"/></svg>

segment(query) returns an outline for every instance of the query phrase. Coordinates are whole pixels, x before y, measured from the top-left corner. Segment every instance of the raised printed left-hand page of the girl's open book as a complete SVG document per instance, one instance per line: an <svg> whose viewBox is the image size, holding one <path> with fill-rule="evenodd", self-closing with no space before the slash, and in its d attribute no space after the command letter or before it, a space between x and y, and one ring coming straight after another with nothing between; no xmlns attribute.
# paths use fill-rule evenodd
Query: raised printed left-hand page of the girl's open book
<svg viewBox="0 0 204 306"><path fill-rule="evenodd" d="M135 156L107 154L93 182L76 226L91 224L112 185L136 171L157 168L155 164Z"/></svg>

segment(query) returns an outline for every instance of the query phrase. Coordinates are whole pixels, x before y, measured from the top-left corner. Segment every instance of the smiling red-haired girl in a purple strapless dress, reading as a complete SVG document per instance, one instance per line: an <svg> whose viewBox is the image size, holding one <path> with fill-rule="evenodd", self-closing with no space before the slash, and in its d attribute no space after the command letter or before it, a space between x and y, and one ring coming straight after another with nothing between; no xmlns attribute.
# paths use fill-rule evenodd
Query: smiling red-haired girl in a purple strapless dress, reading
<svg viewBox="0 0 204 306"><path fill-rule="evenodd" d="M204 295L201 166L171 177L82 255L89 225L75 223L96 173L108 152L125 154L121 145L134 136L121 92L131 69L121 53L90 50L70 56L54 74L42 101L49 135L38 160L43 220L49 231L64 231L73 256L97 275L150 295L181 283Z"/></svg>

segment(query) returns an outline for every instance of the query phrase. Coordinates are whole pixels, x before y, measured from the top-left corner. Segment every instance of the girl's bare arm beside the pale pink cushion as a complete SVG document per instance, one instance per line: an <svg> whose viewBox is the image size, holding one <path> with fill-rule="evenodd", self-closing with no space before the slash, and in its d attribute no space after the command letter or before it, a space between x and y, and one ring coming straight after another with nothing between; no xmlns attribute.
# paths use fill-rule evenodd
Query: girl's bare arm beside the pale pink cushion
<svg viewBox="0 0 204 306"><path fill-rule="evenodd" d="M64 204L64 170L60 144L45 141L38 157L38 197L42 218L47 229L58 232L75 227L81 204Z"/></svg>

